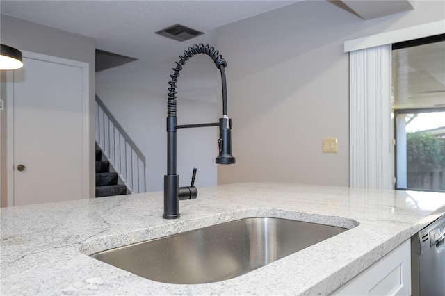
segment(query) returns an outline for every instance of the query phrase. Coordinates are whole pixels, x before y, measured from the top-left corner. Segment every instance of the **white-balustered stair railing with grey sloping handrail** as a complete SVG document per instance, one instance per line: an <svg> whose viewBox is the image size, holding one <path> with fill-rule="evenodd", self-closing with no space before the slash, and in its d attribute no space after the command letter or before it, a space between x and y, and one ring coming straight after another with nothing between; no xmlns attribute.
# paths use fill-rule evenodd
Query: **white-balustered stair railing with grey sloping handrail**
<svg viewBox="0 0 445 296"><path fill-rule="evenodd" d="M96 94L95 140L129 192L146 190L145 156Z"/></svg>

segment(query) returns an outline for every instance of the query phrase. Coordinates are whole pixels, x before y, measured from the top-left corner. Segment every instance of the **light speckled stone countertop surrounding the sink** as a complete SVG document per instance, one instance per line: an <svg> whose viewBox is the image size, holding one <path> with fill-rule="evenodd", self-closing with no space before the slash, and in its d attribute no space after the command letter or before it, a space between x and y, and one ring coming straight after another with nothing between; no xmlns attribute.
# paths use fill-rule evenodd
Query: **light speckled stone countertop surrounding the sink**
<svg viewBox="0 0 445 296"><path fill-rule="evenodd" d="M162 192L1 208L1 295L328 295L445 213L445 194L433 192L289 183L198 191L180 202L178 220L162 219ZM86 256L264 216L353 228L217 283L159 283Z"/></svg>

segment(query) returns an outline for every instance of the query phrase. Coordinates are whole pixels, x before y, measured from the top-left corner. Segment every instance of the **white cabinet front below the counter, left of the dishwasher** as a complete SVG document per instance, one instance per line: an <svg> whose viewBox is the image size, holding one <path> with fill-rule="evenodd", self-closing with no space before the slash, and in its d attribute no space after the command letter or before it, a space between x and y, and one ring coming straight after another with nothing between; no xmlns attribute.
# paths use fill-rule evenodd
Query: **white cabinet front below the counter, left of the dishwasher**
<svg viewBox="0 0 445 296"><path fill-rule="evenodd" d="M403 242L332 295L411 295L410 240Z"/></svg>

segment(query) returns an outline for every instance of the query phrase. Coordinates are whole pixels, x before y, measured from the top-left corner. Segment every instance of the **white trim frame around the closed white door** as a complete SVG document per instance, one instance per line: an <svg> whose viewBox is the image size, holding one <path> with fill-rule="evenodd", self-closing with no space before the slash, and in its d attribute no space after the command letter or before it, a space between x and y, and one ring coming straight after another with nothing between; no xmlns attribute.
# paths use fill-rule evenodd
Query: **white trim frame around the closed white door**
<svg viewBox="0 0 445 296"><path fill-rule="evenodd" d="M32 58L34 60L42 60L50 63L58 63L63 65L70 65L79 67L83 72L83 198L90 197L90 65L79 60L69 60L66 58L59 58L57 56L47 56L45 54L38 54L32 51L23 51L24 58ZM26 67L26 65L24 65ZM12 71L11 71L12 72ZM6 77L7 85L7 101L8 101L8 126L7 126L7 183L8 183L8 206L14 204L14 88L13 88L13 74Z"/></svg>

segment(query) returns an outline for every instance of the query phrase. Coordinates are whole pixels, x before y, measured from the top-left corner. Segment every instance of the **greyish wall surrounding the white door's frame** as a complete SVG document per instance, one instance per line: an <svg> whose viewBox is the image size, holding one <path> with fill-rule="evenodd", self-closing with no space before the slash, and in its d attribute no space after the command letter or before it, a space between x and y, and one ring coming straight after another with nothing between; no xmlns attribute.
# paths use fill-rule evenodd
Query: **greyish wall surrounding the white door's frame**
<svg viewBox="0 0 445 296"><path fill-rule="evenodd" d="M1 43L24 51L33 51L49 56L80 60L90 64L90 197L95 196L94 163L94 110L95 110L95 40L83 35L62 31L8 15L0 15ZM25 65L26 67L26 65ZM3 84L2 84L3 85ZM4 86L4 85L3 85ZM4 91L4 90L3 90ZM2 95L3 99L3 95ZM5 100L6 101L6 100ZM1 142L6 142L6 110L1 111ZM30 122L30 124L32 124ZM6 150L1 145L1 206L6 199Z"/></svg>

